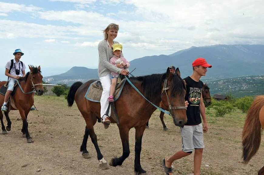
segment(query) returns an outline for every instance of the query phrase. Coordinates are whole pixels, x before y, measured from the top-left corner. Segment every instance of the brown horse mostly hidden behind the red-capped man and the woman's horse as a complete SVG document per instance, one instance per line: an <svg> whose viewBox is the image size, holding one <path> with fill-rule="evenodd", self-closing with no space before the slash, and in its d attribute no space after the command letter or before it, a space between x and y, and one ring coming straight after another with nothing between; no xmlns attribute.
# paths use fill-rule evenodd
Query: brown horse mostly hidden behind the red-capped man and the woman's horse
<svg viewBox="0 0 264 175"><path fill-rule="evenodd" d="M209 91L209 87L207 86L207 84L203 84L203 91L202 91L202 96L203 96L203 99L204 99L204 102L205 102L205 106L210 106L211 105L211 94L210 94L210 91ZM160 107L164 109L164 105L162 103L160 103ZM164 123L164 112L161 111L160 113L160 119L161 119L161 123L162 123L162 126L163 126L163 130L166 131L168 130L169 128L166 126L166 124ZM148 126L148 123L149 121L147 121L147 124L146 124L146 128L149 129L149 126Z"/></svg>

